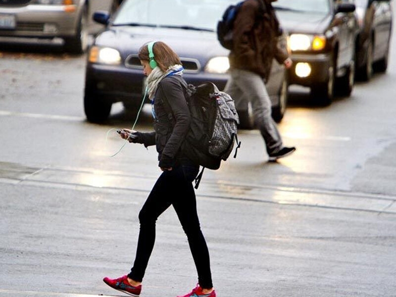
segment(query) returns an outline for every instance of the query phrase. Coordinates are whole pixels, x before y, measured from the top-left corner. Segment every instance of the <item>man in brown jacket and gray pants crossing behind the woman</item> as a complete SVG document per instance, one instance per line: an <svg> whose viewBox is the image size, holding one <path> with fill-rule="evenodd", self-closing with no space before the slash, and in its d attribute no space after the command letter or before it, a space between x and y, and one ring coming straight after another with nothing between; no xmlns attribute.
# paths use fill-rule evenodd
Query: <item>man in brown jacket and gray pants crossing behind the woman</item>
<svg viewBox="0 0 396 297"><path fill-rule="evenodd" d="M229 55L231 77L224 92L235 100L237 109L244 99L251 102L254 123L265 141L269 161L276 161L296 148L282 144L271 117L271 101L264 83L268 80L274 57L287 68L292 66L287 49L278 46L282 31L272 1L245 0L240 7L234 21L233 49Z"/></svg>

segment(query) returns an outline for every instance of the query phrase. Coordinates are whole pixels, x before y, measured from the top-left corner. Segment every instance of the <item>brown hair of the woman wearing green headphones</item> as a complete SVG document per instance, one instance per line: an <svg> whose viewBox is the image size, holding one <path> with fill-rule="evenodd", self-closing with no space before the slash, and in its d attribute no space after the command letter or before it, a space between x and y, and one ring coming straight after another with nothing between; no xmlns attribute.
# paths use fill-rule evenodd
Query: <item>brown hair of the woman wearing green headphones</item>
<svg viewBox="0 0 396 297"><path fill-rule="evenodd" d="M148 61L148 47L147 44L144 44L139 49L138 57L142 61ZM168 45L161 41L156 41L152 47L152 52L154 53L154 60L157 62L158 67L166 72L170 66L175 64L182 64L179 56L176 52L173 51Z"/></svg>

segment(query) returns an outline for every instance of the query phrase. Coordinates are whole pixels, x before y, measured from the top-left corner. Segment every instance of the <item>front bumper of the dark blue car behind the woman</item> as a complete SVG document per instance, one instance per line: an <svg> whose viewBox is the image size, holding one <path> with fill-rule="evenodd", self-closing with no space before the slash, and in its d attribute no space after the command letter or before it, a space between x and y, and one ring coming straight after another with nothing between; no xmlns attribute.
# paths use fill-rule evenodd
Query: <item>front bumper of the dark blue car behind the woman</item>
<svg viewBox="0 0 396 297"><path fill-rule="evenodd" d="M183 74L187 83L199 85L214 83L223 90L229 76L227 74L188 73ZM88 63L86 68L86 92L110 102L124 101L138 105L144 95L145 76L142 69Z"/></svg>

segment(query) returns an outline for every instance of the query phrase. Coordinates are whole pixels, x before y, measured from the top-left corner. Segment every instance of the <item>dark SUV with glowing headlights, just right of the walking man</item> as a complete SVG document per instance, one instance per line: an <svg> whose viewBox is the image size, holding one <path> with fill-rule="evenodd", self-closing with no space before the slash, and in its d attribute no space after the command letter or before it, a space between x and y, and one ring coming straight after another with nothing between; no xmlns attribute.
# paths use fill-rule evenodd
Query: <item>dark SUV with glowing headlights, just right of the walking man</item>
<svg viewBox="0 0 396 297"><path fill-rule="evenodd" d="M351 0L278 0L272 3L290 34L290 84L311 88L317 103L330 104L334 91L349 96L354 84L357 35Z"/></svg>

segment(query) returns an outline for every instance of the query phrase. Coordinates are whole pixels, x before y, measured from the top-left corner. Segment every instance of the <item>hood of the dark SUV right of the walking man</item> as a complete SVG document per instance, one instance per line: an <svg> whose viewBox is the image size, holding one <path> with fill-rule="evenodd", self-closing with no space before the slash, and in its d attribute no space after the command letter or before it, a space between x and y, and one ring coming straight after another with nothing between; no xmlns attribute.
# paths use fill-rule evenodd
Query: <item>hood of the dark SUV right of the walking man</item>
<svg viewBox="0 0 396 297"><path fill-rule="evenodd" d="M332 20L331 14L277 11L277 15L282 27L290 34L324 34Z"/></svg>

